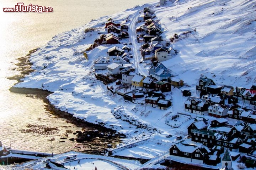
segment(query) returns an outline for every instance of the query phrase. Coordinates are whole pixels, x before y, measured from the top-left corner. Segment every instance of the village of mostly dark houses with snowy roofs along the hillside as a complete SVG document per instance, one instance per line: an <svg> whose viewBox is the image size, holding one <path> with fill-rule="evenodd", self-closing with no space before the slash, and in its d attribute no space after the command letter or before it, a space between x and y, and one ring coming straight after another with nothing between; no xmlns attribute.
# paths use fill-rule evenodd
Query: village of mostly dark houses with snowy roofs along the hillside
<svg viewBox="0 0 256 170"><path fill-rule="evenodd" d="M106 21L104 43L114 46L108 49L106 56L95 61L96 78L124 100L144 102L148 107L159 109L172 107L175 97L167 94L172 94L173 88L182 91L187 97L183 111L197 117L187 127L187 138L191 141L181 137L170 146L174 159L208 165L225 161L222 168L231 169L230 162L240 161L241 153L252 154L256 147L256 86L218 86L214 79L198 77L196 87L188 88L186 82L172 75L161 63L178 51L170 47L170 41L162 39L154 11L144 8L135 23L136 30L130 30L130 25L129 18L121 22L111 18ZM142 60L135 56L138 51ZM139 70L145 66L149 67L147 76ZM192 88L197 92L194 95ZM215 119L210 120L209 116ZM256 166L253 155L243 161L248 167Z"/></svg>

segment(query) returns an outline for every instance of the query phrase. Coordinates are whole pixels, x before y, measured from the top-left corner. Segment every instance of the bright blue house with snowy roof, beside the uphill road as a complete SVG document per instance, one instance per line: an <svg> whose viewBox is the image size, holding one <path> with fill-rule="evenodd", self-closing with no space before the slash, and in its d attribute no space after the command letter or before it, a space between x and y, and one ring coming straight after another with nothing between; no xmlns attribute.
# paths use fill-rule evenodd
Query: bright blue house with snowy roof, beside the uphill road
<svg viewBox="0 0 256 170"><path fill-rule="evenodd" d="M168 79L171 76L164 64L159 62L151 63L149 68L149 75L156 78L158 81Z"/></svg>

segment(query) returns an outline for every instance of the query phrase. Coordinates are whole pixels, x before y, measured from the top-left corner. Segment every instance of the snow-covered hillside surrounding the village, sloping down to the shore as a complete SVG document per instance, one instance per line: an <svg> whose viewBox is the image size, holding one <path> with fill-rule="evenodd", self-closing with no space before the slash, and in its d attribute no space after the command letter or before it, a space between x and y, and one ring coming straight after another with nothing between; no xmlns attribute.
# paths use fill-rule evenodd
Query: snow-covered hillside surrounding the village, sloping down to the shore
<svg viewBox="0 0 256 170"><path fill-rule="evenodd" d="M217 85L249 88L256 83L255 0L177 0L154 7L156 4L149 5L164 31L162 38L169 40L175 33L180 35L171 44L178 50L178 55L163 63L186 83L186 89L191 89L192 95L197 95L196 83L201 75L212 78ZM101 17L81 28L54 36L31 55L35 72L15 86L52 91L48 99L55 107L127 135L124 144L151 137L143 146L120 155L152 158L165 152L176 136L187 135L187 126L193 121L185 122L187 118L184 117L184 122L178 120L182 123L178 128L171 128L165 123L177 112L185 112L183 103L186 97L182 97L181 90L175 88L172 96L171 93L166 94L173 98L173 107L166 111L145 107L140 102L124 101L121 96L112 95L94 75L94 61L98 57L106 57L108 49L115 45L100 45L87 52L89 60L82 53L99 36L98 31L84 33L86 28L104 27L109 17L114 21L128 17L130 40L127 42L133 44L134 67L138 73L147 75L148 66L144 68L144 64L139 63L142 58L138 51L140 44L134 38L139 12L149 5ZM190 30L191 33L183 34ZM121 119L117 119L116 114ZM144 128L138 128L138 125L144 125ZM169 134L173 137L166 138Z"/></svg>

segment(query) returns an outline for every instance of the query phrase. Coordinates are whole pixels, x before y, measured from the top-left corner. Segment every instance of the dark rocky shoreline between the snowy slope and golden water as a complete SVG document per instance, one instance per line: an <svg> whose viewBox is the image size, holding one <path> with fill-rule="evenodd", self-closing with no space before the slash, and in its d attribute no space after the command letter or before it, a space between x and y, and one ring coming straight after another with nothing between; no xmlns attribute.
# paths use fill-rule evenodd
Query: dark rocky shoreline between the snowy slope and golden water
<svg viewBox="0 0 256 170"><path fill-rule="evenodd" d="M17 83L22 82L22 78L25 77L25 75L32 73L34 70L31 69L32 63L30 63L29 58L32 53L36 52L39 48L33 49L29 51L29 53L24 56L17 58L19 61L15 65L18 66L16 70L20 72L19 75L15 75L13 77L8 77L8 79L11 80L17 80ZM17 84L15 83L15 84ZM14 84L14 85L15 85ZM74 149L79 149L79 152L83 153L90 153L90 154L101 154L103 152L103 149L107 148L107 144L111 143L112 146L115 146L117 143L122 142L122 138L125 138L126 136L123 134L117 133L116 130L106 128L102 124L94 124L89 123L87 121L84 121L80 118L73 117L72 114L61 111L59 109L56 109L53 104L49 102L47 99L47 96L52 94L53 92L42 90L38 88L27 88L27 87L10 87L10 92L18 93L18 94L26 94L30 97L30 95L34 95L35 98L42 100L45 105L44 108L46 111L48 111L50 114L54 115L54 118L64 118L66 119L67 123L74 124L75 126L82 128L83 132L75 132L77 134L77 137L83 137L84 135L90 134L97 130L97 134L94 134L94 138L86 138L82 141L77 141L76 145L73 147ZM103 134L106 135L100 135L103 132ZM108 135L111 134L111 135ZM89 142L88 142L89 141Z"/></svg>

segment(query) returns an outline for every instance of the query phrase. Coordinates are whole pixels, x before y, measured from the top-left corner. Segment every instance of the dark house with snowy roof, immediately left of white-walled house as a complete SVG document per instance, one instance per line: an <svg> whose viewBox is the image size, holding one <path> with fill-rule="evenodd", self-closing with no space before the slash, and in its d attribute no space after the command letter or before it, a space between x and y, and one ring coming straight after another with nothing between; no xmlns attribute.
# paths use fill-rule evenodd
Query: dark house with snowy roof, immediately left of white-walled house
<svg viewBox="0 0 256 170"><path fill-rule="evenodd" d="M210 101L208 99L190 96L185 101L185 111L197 115L208 115L208 107Z"/></svg>

